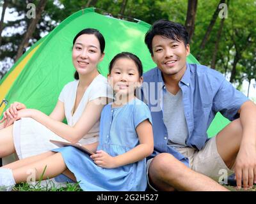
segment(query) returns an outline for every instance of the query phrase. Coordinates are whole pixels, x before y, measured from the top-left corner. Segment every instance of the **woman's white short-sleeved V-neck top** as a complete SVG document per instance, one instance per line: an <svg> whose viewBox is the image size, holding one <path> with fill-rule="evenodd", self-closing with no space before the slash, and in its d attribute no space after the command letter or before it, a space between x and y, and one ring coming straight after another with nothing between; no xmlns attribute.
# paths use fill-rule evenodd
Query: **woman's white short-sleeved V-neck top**
<svg viewBox="0 0 256 204"><path fill-rule="evenodd" d="M89 101L99 97L106 97L113 99L113 90L108 84L108 80L106 77L102 75L98 75L92 81L92 83L88 86L86 91L84 92L83 98L79 102L77 106L76 112L73 113L74 104L76 102L76 93L77 86L79 84L79 80L75 80L73 82L69 82L65 87L63 87L59 100L64 103L65 106L65 117L67 119L67 124L69 126L74 126L76 122L80 119L84 108L86 107ZM90 117L90 116L89 116ZM99 121L93 126L90 131L83 136L79 143L93 143L97 142L99 137Z"/></svg>

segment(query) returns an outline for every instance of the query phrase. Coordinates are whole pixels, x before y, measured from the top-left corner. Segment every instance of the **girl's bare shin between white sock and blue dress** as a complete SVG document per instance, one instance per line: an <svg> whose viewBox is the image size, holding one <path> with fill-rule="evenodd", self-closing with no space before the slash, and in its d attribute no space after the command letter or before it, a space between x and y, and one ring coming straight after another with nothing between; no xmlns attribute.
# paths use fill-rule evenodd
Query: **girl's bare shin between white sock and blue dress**
<svg viewBox="0 0 256 204"><path fill-rule="evenodd" d="M26 182L27 179L31 177L35 178L35 180L40 180L41 178L42 180L50 179L56 177L60 173L63 173L65 170L67 170L67 166L61 156L61 153L58 152L46 157L45 159L36 161L35 163L15 168L12 172L15 182L19 184L20 182ZM44 175L42 175L43 172Z"/></svg>

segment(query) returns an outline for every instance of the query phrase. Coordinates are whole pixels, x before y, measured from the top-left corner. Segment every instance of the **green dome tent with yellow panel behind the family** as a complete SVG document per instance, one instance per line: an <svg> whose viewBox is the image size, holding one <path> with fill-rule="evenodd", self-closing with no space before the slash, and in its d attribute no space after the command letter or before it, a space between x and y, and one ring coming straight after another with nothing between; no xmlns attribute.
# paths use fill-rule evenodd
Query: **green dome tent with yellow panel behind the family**
<svg viewBox="0 0 256 204"><path fill-rule="evenodd" d="M20 57L0 81L0 102L4 98L8 100L8 105L20 101L29 108L36 108L46 114L51 113L63 85L74 80L72 40L86 27L99 29L106 40L106 55L99 65L102 75L108 74L109 61L122 51L138 55L144 71L156 66L144 43L150 24L101 15L96 13L94 8L87 8L66 18ZM187 61L198 63L191 54ZM0 114L8 105L0 108ZM218 113L208 130L209 136L216 135L227 123L228 120Z"/></svg>

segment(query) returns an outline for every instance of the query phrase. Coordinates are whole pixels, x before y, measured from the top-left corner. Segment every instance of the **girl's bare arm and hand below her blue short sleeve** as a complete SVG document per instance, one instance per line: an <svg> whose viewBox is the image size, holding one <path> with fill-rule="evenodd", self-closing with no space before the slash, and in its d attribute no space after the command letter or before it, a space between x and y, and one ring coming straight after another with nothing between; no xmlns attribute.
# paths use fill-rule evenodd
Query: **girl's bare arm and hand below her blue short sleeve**
<svg viewBox="0 0 256 204"><path fill-rule="evenodd" d="M99 150L97 154L91 156L92 159L98 166L103 168L116 168L126 164L136 163L150 156L154 150L152 124L148 120L144 120L137 126L136 132L138 133L140 145L115 157L111 157L103 150Z"/></svg>

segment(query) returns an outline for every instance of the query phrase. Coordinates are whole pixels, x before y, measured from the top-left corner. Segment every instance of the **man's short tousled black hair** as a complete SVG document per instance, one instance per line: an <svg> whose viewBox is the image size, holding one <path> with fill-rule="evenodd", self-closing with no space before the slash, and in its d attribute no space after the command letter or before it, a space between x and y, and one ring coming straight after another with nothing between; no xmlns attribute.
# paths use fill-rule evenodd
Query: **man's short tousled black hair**
<svg viewBox="0 0 256 204"><path fill-rule="evenodd" d="M184 25L165 19L157 20L145 35L145 43L152 55L152 40L156 35L164 36L172 40L183 41L185 46L189 44L188 32Z"/></svg>

